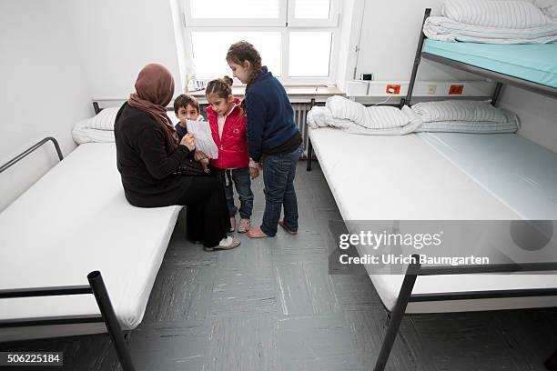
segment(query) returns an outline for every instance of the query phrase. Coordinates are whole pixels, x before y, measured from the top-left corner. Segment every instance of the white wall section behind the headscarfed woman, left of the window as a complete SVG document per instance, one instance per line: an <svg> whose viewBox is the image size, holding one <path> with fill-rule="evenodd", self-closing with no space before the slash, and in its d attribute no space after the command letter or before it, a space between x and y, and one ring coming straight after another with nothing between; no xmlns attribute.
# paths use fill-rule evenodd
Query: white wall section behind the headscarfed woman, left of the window
<svg viewBox="0 0 557 371"><path fill-rule="evenodd" d="M183 49L170 1L177 0L66 0L93 97L127 97L149 63L166 65L181 92Z"/></svg>

